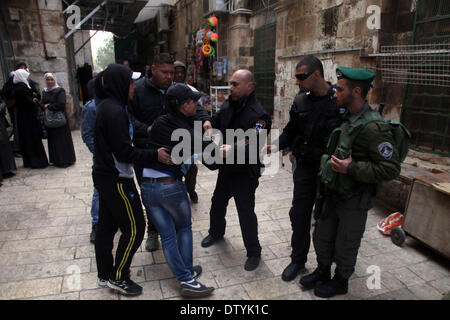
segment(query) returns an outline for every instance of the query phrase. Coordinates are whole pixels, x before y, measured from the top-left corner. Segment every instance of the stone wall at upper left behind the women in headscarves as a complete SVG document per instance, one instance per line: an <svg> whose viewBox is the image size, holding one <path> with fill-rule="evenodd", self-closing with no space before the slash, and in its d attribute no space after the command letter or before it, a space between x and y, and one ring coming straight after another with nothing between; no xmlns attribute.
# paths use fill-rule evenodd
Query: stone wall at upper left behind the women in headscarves
<svg viewBox="0 0 450 320"><path fill-rule="evenodd" d="M8 11L7 23L13 52L7 52L8 65L12 68L16 63L25 61L30 70L30 79L39 83L40 90L45 87L44 74L55 74L58 84L67 92L66 110L70 118L74 116L74 99L71 80L70 62L67 57L64 35L65 20L62 14L62 1L39 0L42 30L45 37L47 57L39 26L38 11L35 0L6 0L6 8L15 8L19 12L19 21L11 20ZM89 31L75 33L75 50L89 37ZM92 64L90 44L77 54L77 64ZM75 66L74 66L75 67ZM71 119L71 124L74 124Z"/></svg>

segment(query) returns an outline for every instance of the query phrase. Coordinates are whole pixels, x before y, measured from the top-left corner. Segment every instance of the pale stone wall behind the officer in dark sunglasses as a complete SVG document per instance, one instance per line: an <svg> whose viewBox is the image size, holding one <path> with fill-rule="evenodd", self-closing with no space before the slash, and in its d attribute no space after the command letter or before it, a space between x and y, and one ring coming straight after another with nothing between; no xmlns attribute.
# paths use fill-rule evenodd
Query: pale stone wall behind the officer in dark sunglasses
<svg viewBox="0 0 450 320"><path fill-rule="evenodd" d="M382 6L379 0L287 0L280 1L277 12L276 95L274 127L288 121L292 100L298 92L295 66L308 54L322 60L325 79L336 83L339 65L374 69L375 59L360 55L377 52L378 30L366 26L369 5ZM363 48L360 50L359 48ZM334 52L333 52L334 51ZM380 101L380 76L374 82L369 101Z"/></svg>

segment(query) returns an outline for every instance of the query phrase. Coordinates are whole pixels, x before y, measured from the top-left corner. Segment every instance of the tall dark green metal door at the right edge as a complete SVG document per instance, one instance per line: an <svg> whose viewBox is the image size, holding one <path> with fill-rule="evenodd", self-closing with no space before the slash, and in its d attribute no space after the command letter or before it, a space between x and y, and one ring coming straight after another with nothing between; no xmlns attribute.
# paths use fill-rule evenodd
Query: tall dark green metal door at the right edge
<svg viewBox="0 0 450 320"><path fill-rule="evenodd" d="M418 0L412 47L424 54L408 64L410 77L421 77L408 81L403 99L410 147L450 156L450 0ZM426 67L434 72L418 71Z"/></svg>

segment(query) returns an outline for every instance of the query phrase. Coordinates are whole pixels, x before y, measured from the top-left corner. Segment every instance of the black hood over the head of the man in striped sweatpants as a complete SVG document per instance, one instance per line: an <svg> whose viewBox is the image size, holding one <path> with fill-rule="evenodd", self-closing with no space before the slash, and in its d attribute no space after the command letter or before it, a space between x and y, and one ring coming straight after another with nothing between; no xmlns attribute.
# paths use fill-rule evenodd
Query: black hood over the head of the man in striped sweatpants
<svg viewBox="0 0 450 320"><path fill-rule="evenodd" d="M103 90L105 96L113 98L125 106L128 102L132 74L133 71L127 66L110 64L103 71Z"/></svg>

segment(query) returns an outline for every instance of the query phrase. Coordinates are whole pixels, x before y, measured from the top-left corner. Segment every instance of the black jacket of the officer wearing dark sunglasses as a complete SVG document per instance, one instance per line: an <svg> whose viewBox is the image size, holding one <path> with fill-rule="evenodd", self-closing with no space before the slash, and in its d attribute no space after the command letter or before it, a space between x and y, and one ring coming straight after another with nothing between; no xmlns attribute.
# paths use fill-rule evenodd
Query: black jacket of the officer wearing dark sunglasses
<svg viewBox="0 0 450 320"><path fill-rule="evenodd" d="M279 149L291 147L297 161L319 166L325 153L328 137L342 122L341 110L333 97L331 86L321 97L299 93L289 111L289 122L279 138Z"/></svg>

